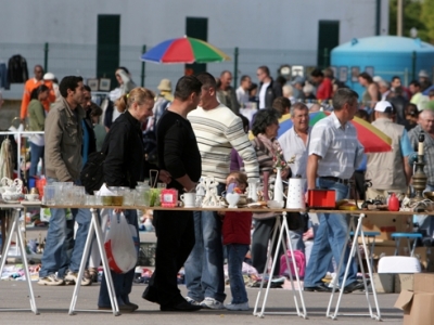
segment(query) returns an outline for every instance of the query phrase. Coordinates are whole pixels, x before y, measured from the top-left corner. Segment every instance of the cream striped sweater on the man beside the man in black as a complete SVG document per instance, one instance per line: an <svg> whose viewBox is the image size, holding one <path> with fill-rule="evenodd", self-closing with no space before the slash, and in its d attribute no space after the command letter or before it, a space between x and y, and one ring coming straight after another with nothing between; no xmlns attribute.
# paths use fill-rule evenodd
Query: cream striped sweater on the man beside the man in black
<svg viewBox="0 0 434 325"><path fill-rule="evenodd" d="M248 178L258 178L255 150L243 129L241 118L220 104L214 109L197 107L188 115L196 135L202 157L202 174L226 183L229 174L230 152L233 147L244 161Z"/></svg>

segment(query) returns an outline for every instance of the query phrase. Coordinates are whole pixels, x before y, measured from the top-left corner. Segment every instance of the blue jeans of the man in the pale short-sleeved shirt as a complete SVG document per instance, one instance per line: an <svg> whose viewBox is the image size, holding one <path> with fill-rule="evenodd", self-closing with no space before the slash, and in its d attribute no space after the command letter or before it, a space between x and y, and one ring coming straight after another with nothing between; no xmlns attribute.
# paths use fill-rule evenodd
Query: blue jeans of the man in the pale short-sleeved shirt
<svg viewBox="0 0 434 325"><path fill-rule="evenodd" d="M318 179L317 185L320 188L335 190L336 202L348 197L348 186L330 180ZM342 249L347 246L348 219L346 214L321 213L319 214L319 226L315 233L314 247L310 253L309 263L306 268L305 287L314 287L322 284L329 269L332 257L336 263L341 261ZM345 266L348 262L349 248L345 250L344 261L339 274L340 284L344 278ZM357 264L353 260L349 268L346 285L356 281Z"/></svg>

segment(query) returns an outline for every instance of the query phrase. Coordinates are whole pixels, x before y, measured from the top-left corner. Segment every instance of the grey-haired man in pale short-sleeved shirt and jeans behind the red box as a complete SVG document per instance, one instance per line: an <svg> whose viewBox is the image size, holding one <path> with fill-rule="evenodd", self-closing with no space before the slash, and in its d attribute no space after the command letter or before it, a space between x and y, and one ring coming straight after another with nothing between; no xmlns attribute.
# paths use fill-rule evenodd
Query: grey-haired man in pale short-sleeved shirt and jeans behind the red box
<svg viewBox="0 0 434 325"><path fill-rule="evenodd" d="M363 146L357 139L357 130L350 123L357 112L358 94L348 89L337 89L333 96L334 112L319 120L311 129L308 144L307 188L335 191L336 202L348 197L348 180L363 158ZM318 187L317 187L318 186ZM331 291L322 277L326 275L332 257L341 261L343 247L347 245L348 220L346 214L321 213L314 247L306 268L305 291ZM349 249L345 250L339 283L345 273ZM362 289L357 282L357 265L353 260L344 292Z"/></svg>

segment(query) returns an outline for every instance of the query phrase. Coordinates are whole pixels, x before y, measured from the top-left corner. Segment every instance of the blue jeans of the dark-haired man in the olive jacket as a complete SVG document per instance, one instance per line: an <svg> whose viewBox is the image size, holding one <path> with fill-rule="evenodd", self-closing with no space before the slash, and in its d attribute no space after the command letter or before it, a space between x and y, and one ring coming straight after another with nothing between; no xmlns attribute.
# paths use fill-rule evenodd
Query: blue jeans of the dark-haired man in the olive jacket
<svg viewBox="0 0 434 325"><path fill-rule="evenodd" d="M48 179L49 183L55 181ZM71 209L73 221L66 220L66 209L50 209L51 218L47 232L46 248L42 256L42 266L39 271L39 277L58 272L58 276L63 278L66 270L78 272L80 268L82 252L85 250L86 238L88 236L91 213L89 209ZM78 223L78 230L75 236L74 248L68 255L72 246L74 221Z"/></svg>

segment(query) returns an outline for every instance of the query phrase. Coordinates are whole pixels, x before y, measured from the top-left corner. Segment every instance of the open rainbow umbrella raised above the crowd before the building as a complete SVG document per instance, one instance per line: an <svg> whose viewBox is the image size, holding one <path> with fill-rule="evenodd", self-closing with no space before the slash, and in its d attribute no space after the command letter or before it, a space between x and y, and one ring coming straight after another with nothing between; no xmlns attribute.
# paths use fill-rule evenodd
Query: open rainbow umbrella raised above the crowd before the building
<svg viewBox="0 0 434 325"><path fill-rule="evenodd" d="M230 57L203 40L184 36L161 42L143 53L141 60L170 64L221 62Z"/></svg>

